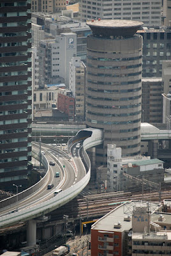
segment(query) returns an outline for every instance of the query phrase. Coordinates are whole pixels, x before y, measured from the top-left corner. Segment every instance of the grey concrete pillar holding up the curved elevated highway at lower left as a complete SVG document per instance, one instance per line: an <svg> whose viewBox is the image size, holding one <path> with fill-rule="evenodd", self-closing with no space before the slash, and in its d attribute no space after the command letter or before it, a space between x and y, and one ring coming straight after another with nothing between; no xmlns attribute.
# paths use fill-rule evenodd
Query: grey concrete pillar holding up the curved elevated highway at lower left
<svg viewBox="0 0 171 256"><path fill-rule="evenodd" d="M27 221L27 246L36 244L36 220Z"/></svg>

